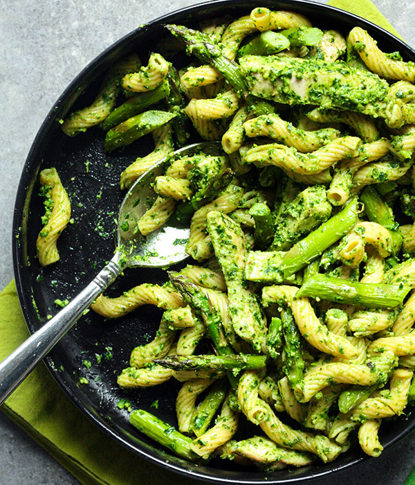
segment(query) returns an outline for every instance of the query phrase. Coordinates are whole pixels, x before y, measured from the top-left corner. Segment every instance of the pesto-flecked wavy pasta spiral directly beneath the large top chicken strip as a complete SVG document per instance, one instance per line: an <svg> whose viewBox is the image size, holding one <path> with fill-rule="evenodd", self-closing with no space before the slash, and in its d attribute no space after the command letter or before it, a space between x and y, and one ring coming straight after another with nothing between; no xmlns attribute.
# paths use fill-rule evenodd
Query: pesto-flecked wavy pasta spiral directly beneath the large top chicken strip
<svg viewBox="0 0 415 485"><path fill-rule="evenodd" d="M340 136L340 131L333 128L306 132L284 121L278 114L261 114L243 123L243 128L250 138L270 136L302 153L313 152Z"/></svg>

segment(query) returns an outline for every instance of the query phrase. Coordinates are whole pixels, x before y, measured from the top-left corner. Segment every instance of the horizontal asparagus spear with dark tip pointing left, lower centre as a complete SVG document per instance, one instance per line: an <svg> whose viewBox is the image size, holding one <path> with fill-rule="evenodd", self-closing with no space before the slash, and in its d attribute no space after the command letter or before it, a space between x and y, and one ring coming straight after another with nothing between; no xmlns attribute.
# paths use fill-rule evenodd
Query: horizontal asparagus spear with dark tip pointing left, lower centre
<svg viewBox="0 0 415 485"><path fill-rule="evenodd" d="M166 355L153 362L174 371L237 371L242 369L262 369L266 365L266 355Z"/></svg>

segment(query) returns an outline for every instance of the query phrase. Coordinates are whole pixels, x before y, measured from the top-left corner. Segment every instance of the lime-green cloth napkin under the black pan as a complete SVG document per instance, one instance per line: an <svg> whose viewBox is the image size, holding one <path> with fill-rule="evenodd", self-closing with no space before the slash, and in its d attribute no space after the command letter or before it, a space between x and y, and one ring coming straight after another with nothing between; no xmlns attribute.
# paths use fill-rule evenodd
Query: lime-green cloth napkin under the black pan
<svg viewBox="0 0 415 485"><path fill-rule="evenodd" d="M331 0L329 5L360 15L398 35L369 0ZM28 337L15 283L0 294L0 361ZM86 485L177 483L177 475L140 459L107 437L57 386L44 363L0 408ZM204 482L186 479L188 485ZM406 485L415 485L415 470Z"/></svg>

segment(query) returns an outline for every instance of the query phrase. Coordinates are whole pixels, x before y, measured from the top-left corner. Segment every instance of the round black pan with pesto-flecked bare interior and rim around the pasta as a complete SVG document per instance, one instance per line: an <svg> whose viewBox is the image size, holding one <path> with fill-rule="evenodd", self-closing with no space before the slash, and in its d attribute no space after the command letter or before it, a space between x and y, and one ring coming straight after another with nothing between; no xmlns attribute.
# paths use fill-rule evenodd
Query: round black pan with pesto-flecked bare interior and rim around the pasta
<svg viewBox="0 0 415 485"><path fill-rule="evenodd" d="M248 14L256 5L301 12L315 26L336 28L344 33L353 26L362 26L376 37L380 48L388 52L398 50L405 60L415 60L415 52L409 46L360 17L317 3L295 0L258 4L250 1L203 3L162 17L120 39L91 62L57 100L40 128L24 166L15 205L13 249L19 298L31 332L39 328L48 315L55 315L58 310L55 299L71 299L111 258L114 218L124 195L119 189L120 173L136 157L152 150L152 141L147 135L125 150L108 155L104 152L104 136L98 127L69 139L61 132L57 121L64 118L69 110L91 103L102 73L122 55L136 51L140 58L147 59L149 51L154 49L154 39L166 35L164 24L196 26L198 21L208 17L240 17ZM42 268L35 255L35 240L44 213L41 197L37 195L37 173L39 169L50 166L57 168L71 197L75 222L68 225L59 238L61 261ZM143 282L164 281L166 275L162 270L127 270L108 294L118 295ZM78 321L46 358L50 372L62 389L104 432L142 457L212 482L302 482L365 459L358 447L354 447L332 464L316 463L298 470L264 474L255 470L238 470L232 466L232 462L223 460L212 461L209 466L195 466L169 455L147 440L129 424L128 413L118 409L118 401L127 398L133 407L142 407L169 423L175 423L174 397L178 383L170 380L161 386L127 392L118 389L116 376L127 367L133 346L147 342L154 335L160 315L161 310L144 306L122 319L104 321L91 311ZM97 355L102 355L100 364ZM91 362L89 369L84 366L84 360ZM89 385L80 385L81 377L86 377ZM159 401L157 410L151 409L154 400ZM390 446L414 427L415 416L385 423L381 428L381 441Z"/></svg>

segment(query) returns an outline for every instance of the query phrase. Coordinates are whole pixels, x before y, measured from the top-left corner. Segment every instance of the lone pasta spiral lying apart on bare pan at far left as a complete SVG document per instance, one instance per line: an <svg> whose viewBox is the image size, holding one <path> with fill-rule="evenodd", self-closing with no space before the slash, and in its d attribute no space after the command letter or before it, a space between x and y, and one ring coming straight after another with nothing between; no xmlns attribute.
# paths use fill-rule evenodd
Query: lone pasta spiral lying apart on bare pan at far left
<svg viewBox="0 0 415 485"><path fill-rule="evenodd" d="M42 217L44 227L36 240L36 252L39 263L47 266L59 261L57 238L71 220L71 202L57 175L56 168L44 168L39 176L42 194L46 200L46 213Z"/></svg>

